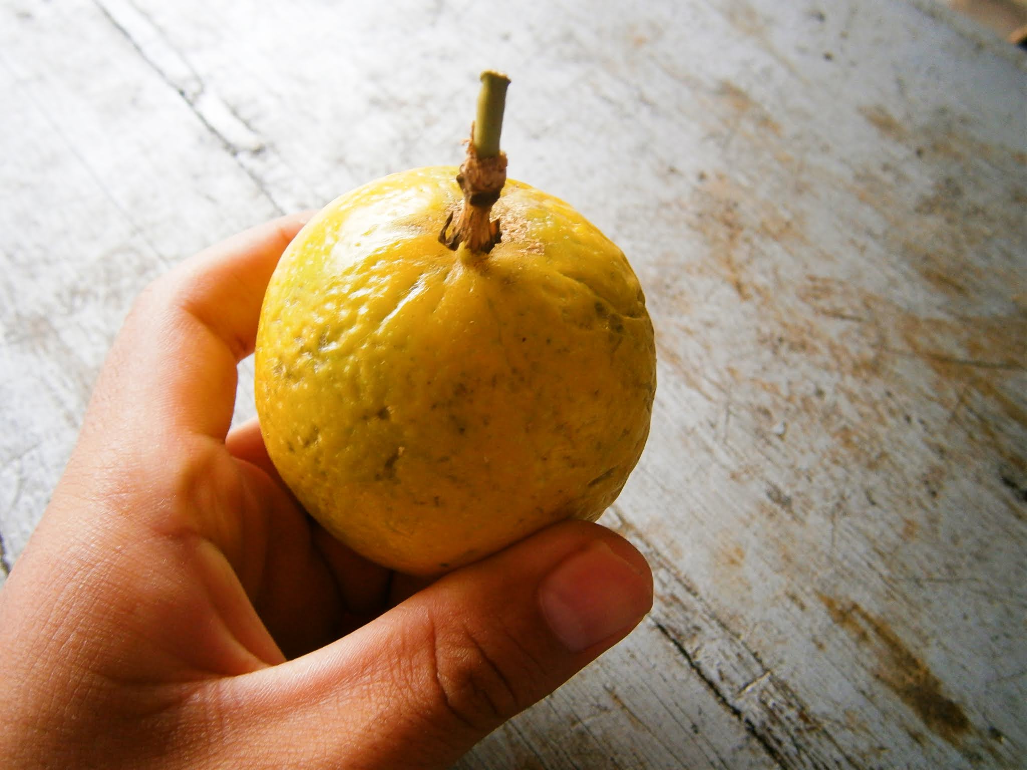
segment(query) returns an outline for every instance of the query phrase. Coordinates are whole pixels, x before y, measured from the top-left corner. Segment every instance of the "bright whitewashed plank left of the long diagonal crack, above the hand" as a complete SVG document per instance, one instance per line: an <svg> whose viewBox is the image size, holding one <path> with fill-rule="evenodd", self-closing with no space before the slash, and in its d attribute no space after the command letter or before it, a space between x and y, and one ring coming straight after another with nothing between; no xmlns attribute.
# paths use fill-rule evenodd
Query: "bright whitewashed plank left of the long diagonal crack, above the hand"
<svg viewBox="0 0 1027 770"><path fill-rule="evenodd" d="M275 209L91 3L0 12L2 577L132 299L174 262Z"/></svg>

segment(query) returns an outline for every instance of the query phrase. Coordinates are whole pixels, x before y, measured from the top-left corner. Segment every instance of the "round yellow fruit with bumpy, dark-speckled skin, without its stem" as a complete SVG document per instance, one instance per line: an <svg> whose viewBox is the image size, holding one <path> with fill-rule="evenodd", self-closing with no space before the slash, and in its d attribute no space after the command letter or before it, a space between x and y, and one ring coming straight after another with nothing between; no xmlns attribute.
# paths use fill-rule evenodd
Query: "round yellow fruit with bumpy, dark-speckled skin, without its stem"
<svg viewBox="0 0 1027 770"><path fill-rule="evenodd" d="M257 336L282 479L339 540L417 575L598 518L642 453L656 385L620 249L510 180L492 209L502 240L450 251L456 170L394 174L326 206L282 256Z"/></svg>

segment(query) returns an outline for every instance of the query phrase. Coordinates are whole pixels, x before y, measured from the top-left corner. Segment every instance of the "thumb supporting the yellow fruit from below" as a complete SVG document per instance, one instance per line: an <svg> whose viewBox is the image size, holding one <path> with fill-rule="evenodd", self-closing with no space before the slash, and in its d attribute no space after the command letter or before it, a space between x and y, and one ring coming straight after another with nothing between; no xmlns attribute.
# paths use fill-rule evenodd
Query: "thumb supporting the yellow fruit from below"
<svg viewBox="0 0 1027 770"><path fill-rule="evenodd" d="M303 767L449 767L651 605L649 567L626 540L556 525L328 647L236 680L249 693L231 700L253 707L237 737L267 760L303 735Z"/></svg>

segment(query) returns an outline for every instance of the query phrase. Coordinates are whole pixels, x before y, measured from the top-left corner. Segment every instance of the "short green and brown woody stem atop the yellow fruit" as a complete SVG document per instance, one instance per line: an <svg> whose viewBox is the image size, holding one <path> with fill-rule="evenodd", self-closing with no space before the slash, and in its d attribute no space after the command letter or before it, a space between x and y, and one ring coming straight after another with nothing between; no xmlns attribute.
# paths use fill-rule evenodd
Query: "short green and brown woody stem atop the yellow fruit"
<svg viewBox="0 0 1027 770"><path fill-rule="evenodd" d="M463 191L463 207L453 231L447 233L453 219L450 215L439 235L439 240L454 251L463 243L472 255L488 254L501 237L499 221L491 222L489 215L506 184L506 154L499 149L499 136L509 82L501 73L482 73L478 119L470 126L467 157L456 177Z"/></svg>

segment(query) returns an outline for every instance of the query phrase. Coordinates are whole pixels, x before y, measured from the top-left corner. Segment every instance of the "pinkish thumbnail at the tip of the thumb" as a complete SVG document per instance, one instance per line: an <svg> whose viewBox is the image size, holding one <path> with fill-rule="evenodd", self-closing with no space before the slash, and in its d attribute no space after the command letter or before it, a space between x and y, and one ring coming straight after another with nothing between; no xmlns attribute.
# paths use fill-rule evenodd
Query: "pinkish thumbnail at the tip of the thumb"
<svg viewBox="0 0 1027 770"><path fill-rule="evenodd" d="M652 583L597 540L542 580L538 601L557 638L580 652L634 628L652 606Z"/></svg>

